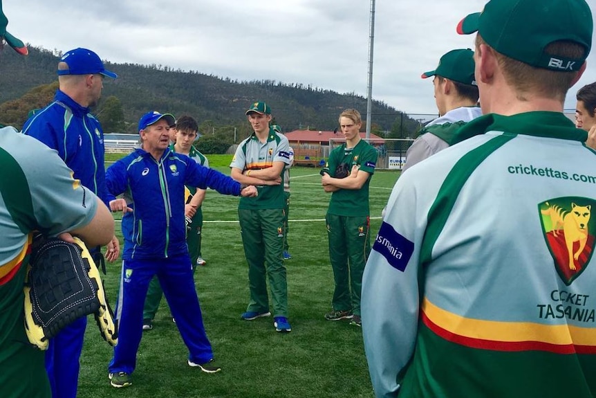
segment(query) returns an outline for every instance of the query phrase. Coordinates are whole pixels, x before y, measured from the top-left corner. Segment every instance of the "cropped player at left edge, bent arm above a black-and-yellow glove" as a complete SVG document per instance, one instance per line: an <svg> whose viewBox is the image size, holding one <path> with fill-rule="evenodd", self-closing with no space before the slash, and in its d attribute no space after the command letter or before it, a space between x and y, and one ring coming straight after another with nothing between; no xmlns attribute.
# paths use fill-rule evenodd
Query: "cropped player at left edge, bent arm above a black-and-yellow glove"
<svg viewBox="0 0 596 398"><path fill-rule="evenodd" d="M6 32L7 23L0 1L0 43L6 39L26 55L23 42ZM114 221L55 151L13 127L0 129L0 168L0 397L50 398L44 352L29 343L24 325L32 233L43 230L69 241L73 234L88 245L106 244Z"/></svg>

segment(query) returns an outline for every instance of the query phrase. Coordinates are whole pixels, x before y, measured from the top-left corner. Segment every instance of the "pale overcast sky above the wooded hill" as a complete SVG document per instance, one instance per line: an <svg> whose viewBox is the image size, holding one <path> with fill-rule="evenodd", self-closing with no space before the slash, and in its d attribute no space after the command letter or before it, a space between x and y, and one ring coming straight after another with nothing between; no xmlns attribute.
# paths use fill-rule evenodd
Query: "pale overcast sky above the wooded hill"
<svg viewBox="0 0 596 398"><path fill-rule="evenodd" d="M420 74L447 51L474 48L474 35L455 28L485 2L375 1L373 98L436 114L431 79ZM596 13L596 0L588 4ZM367 96L369 0L3 0L3 9L10 33L48 50L85 47L109 62ZM577 89L596 80L595 53L566 109L575 109Z"/></svg>

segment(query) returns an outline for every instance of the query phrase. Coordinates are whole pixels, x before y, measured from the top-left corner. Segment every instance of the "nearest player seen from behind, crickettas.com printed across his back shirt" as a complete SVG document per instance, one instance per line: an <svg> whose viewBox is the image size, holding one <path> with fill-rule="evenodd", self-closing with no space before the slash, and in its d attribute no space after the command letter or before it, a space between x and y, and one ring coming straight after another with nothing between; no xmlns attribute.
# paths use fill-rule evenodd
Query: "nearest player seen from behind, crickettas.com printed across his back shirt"
<svg viewBox="0 0 596 398"><path fill-rule="evenodd" d="M395 183L362 284L377 397L596 396L596 153L563 114L585 0L490 0L484 116Z"/></svg>

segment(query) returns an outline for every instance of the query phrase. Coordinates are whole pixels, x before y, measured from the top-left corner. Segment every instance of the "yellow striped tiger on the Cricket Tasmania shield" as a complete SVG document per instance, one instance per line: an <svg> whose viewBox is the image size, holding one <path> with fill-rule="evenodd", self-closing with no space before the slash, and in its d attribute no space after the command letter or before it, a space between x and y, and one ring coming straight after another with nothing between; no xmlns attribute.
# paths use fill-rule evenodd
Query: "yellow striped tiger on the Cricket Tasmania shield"
<svg viewBox="0 0 596 398"><path fill-rule="evenodd" d="M550 217L552 224L552 235L557 237L560 230L563 230L565 245L569 255L569 269L575 270L575 262L586 247L588 240L588 222L592 212L592 206L577 206L571 203L571 210L566 210L561 206L550 205L546 202L548 208L540 210L543 215ZM579 242L579 248L573 253L573 244Z"/></svg>

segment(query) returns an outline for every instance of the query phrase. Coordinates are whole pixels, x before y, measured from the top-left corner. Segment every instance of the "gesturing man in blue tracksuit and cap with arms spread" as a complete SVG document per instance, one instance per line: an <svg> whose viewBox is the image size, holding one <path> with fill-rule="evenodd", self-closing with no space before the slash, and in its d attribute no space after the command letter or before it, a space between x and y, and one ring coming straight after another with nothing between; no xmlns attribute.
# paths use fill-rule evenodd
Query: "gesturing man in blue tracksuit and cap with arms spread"
<svg viewBox="0 0 596 398"><path fill-rule="evenodd" d="M109 364L111 385L130 386L142 336L142 309L147 287L157 275L188 347L188 364L203 372L221 370L213 361L198 304L192 264L186 244L185 185L207 187L224 195L257 195L254 186L241 184L221 172L205 168L168 147L174 116L149 112L139 122L141 148L117 161L106 172L112 211L131 212L124 233L120 297L116 309L118 345ZM126 199L115 199L126 192Z"/></svg>

